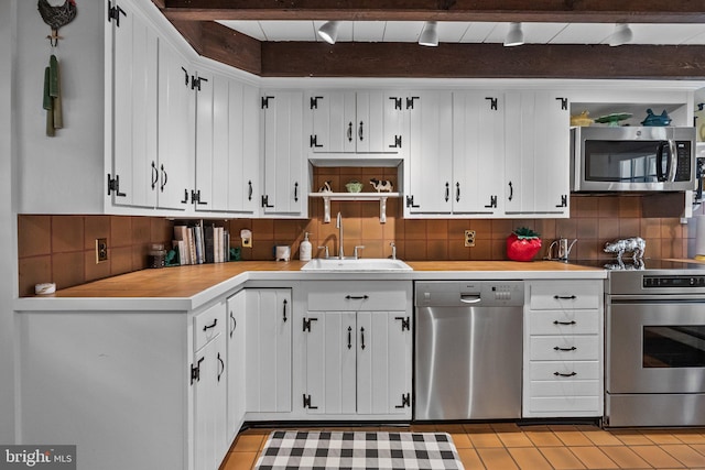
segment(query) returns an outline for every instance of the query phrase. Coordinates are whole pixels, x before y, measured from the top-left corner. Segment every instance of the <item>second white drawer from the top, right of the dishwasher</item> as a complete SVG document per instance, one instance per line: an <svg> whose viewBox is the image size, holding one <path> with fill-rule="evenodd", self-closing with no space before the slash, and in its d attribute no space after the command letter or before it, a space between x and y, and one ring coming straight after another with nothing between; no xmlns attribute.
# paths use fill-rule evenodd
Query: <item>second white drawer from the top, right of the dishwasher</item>
<svg viewBox="0 0 705 470"><path fill-rule="evenodd" d="M529 311L531 335L597 335L599 310Z"/></svg>

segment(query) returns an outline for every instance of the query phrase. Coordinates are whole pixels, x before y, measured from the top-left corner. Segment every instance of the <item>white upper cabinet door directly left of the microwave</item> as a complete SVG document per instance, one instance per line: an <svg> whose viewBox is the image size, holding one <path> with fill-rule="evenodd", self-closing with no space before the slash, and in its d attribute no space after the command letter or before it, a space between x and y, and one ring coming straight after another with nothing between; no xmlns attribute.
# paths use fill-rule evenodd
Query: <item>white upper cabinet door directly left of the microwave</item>
<svg viewBox="0 0 705 470"><path fill-rule="evenodd" d="M505 212L568 217L570 111L565 95L507 91Z"/></svg>

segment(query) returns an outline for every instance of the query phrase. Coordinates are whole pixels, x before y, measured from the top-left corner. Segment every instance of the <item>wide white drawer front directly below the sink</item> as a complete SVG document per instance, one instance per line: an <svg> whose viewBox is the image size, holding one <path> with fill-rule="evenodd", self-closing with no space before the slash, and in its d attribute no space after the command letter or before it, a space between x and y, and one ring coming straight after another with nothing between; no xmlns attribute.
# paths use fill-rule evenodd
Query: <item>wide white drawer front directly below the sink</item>
<svg viewBox="0 0 705 470"><path fill-rule="evenodd" d="M308 292L308 310L405 310L411 284L397 282L321 282Z"/></svg>

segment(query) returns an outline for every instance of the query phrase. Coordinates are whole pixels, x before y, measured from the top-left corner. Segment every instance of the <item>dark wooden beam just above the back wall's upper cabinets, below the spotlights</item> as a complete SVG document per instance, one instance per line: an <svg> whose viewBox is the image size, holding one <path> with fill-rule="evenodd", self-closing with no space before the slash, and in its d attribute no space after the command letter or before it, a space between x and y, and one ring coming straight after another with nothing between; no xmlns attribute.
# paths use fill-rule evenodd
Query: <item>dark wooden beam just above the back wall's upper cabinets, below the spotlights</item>
<svg viewBox="0 0 705 470"><path fill-rule="evenodd" d="M262 43L263 77L705 79L705 46Z"/></svg>

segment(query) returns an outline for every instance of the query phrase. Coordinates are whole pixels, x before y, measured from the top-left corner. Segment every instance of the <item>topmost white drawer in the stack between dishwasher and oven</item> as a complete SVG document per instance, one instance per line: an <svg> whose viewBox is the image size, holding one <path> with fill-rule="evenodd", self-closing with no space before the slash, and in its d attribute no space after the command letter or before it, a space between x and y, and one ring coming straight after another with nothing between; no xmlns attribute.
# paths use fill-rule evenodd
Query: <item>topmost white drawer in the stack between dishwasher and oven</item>
<svg viewBox="0 0 705 470"><path fill-rule="evenodd" d="M597 309L603 303L601 284L588 281L541 282L529 285L532 310Z"/></svg>

